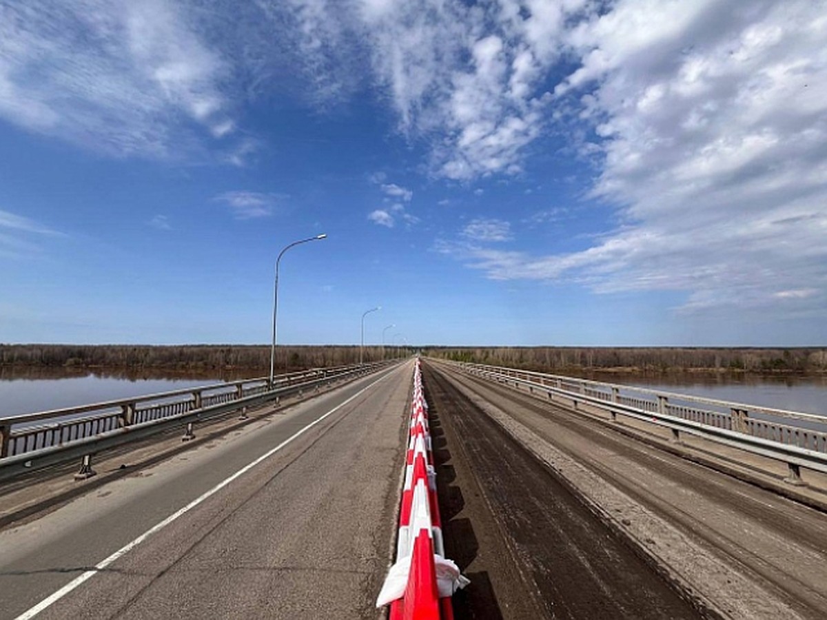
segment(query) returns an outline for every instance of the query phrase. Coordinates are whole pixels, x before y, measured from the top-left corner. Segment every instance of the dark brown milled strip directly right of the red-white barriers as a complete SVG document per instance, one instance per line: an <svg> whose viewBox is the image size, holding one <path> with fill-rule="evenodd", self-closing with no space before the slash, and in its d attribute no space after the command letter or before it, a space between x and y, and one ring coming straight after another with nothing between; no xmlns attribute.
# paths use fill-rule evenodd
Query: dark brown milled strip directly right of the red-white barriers
<svg viewBox="0 0 827 620"><path fill-rule="evenodd" d="M461 618L698 618L552 473L440 374L426 371L439 441L446 555L471 585ZM442 435L442 433L440 433ZM447 468L451 469L447 469ZM442 474L446 473L447 476ZM443 479L451 479L445 486Z"/></svg>

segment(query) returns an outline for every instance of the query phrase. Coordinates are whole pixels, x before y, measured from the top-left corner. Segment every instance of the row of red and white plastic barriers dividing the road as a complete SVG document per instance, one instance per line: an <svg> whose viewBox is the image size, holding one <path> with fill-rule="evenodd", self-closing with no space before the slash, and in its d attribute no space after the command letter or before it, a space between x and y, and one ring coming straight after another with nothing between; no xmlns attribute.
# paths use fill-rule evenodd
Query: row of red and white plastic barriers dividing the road
<svg viewBox="0 0 827 620"><path fill-rule="evenodd" d="M390 567L376 607L390 604L390 620L452 620L451 596L468 579L445 558L437 505L428 403L419 360L414 366L408 458L399 513L396 563Z"/></svg>

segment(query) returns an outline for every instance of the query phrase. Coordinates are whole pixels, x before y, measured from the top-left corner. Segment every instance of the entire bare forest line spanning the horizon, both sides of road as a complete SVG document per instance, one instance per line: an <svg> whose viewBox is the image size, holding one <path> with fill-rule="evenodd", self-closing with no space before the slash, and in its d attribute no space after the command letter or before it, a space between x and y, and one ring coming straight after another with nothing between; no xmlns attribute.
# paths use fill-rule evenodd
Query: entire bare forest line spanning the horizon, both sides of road
<svg viewBox="0 0 827 620"><path fill-rule="evenodd" d="M366 346L365 361L410 355L414 347ZM688 347L568 347L428 346L423 355L527 370L614 370L670 372L825 373L827 348L688 348ZM301 370L354 364L359 346L279 346L276 369ZM246 345L3 345L0 366L37 368L122 368L132 370L251 370L270 369L269 346Z"/></svg>

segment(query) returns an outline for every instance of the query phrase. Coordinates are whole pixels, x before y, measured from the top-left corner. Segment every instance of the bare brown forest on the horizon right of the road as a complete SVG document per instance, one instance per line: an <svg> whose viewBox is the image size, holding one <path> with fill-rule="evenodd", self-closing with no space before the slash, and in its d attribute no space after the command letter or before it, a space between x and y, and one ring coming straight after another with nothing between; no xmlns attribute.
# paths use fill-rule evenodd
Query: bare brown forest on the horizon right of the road
<svg viewBox="0 0 827 620"><path fill-rule="evenodd" d="M524 370L827 372L827 348L815 347L434 347L426 353L446 360L503 365Z"/></svg>

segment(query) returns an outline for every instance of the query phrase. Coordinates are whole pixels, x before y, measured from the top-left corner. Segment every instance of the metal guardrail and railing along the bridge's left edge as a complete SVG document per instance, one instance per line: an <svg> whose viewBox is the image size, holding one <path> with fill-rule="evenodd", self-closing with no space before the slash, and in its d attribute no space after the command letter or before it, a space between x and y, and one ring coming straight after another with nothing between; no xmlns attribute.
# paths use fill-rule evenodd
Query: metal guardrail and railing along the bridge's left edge
<svg viewBox="0 0 827 620"><path fill-rule="evenodd" d="M144 439L173 427L257 407L388 365L318 368L0 419L0 480ZM187 436L184 436L186 439ZM82 470L83 471L83 470Z"/></svg>

